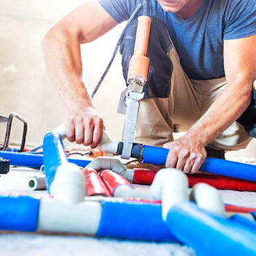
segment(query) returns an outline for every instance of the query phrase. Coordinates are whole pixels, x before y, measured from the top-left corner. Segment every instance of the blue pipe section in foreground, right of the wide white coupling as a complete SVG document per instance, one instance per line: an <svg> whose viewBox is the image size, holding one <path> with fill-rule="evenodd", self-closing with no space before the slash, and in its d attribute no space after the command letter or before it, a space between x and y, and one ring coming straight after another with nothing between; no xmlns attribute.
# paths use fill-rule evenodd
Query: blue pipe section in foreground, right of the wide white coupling
<svg viewBox="0 0 256 256"><path fill-rule="evenodd" d="M102 201L98 237L177 242L162 219L161 204Z"/></svg>

